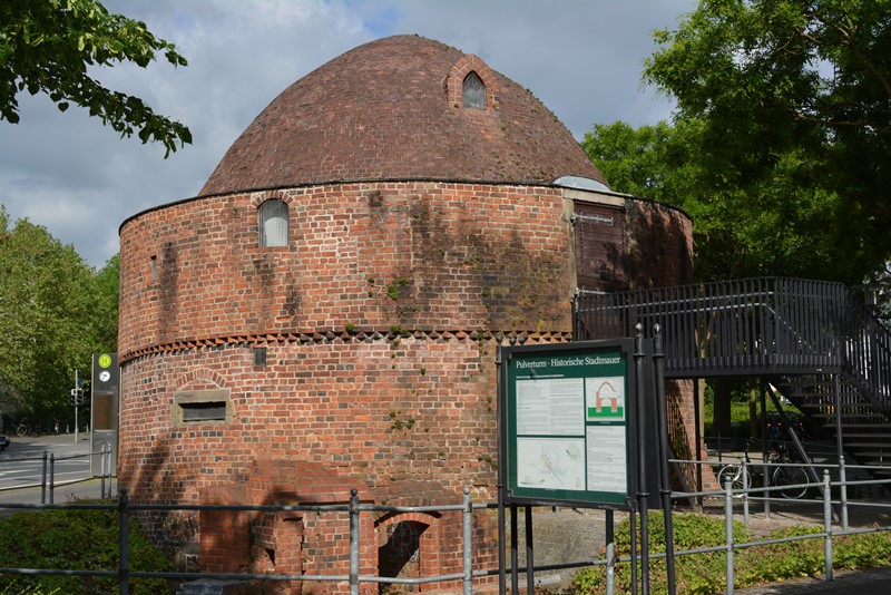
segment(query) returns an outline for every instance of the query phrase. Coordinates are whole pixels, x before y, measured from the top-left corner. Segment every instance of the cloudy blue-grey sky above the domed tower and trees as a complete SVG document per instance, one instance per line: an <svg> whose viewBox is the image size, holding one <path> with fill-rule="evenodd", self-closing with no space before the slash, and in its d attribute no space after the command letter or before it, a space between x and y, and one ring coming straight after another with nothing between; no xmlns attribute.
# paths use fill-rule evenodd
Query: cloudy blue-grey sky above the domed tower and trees
<svg viewBox="0 0 891 595"><path fill-rule="evenodd" d="M238 135L292 82L356 46L420 35L528 88L576 139L595 124L670 117L645 87L653 31L674 28L695 0L105 0L172 41L163 58L90 74L189 127L193 144L164 158L158 143L120 138L71 106L19 95L19 124L0 121L0 204L45 226L99 269L118 230L145 209L195 196Z"/></svg>

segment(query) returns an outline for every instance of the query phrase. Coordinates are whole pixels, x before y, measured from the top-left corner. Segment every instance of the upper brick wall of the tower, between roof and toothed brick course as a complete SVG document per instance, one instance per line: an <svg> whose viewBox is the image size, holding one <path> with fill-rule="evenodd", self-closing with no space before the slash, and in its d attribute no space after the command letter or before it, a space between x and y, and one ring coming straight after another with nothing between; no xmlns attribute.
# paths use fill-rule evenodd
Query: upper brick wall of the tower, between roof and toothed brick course
<svg viewBox="0 0 891 595"><path fill-rule="evenodd" d="M288 247L256 246L270 197L290 205ZM561 209L556 188L378 183L151 211L121 228L119 351L347 326L568 330Z"/></svg>

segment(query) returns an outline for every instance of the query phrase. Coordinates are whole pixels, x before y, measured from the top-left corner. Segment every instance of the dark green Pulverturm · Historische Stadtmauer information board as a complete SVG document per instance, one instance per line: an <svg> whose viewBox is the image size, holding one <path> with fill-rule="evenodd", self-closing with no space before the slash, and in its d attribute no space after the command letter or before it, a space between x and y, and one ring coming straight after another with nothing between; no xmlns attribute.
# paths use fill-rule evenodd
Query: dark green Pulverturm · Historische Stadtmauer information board
<svg viewBox="0 0 891 595"><path fill-rule="evenodd" d="M499 363L505 501L633 509L634 340L502 347Z"/></svg>

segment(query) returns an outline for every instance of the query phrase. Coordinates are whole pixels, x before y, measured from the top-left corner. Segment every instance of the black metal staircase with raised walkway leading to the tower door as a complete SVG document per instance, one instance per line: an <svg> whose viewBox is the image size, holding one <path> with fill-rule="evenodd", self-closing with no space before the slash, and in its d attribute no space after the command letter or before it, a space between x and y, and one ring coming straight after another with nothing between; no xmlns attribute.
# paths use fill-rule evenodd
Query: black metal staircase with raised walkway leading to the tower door
<svg viewBox="0 0 891 595"><path fill-rule="evenodd" d="M576 340L659 324L667 378L760 377L861 465L891 464L891 333L840 283L785 277L581 294Z"/></svg>

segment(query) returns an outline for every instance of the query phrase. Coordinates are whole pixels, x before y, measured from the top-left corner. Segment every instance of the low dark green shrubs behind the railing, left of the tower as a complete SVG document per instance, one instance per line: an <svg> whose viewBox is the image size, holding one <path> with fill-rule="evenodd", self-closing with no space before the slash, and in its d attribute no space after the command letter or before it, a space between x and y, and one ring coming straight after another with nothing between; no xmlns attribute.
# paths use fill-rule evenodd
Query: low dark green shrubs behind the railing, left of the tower
<svg viewBox="0 0 891 595"><path fill-rule="evenodd" d="M174 564L129 524L130 570L174 572ZM118 567L116 510L52 509L0 518L0 567L63 570L111 570ZM167 593L167 581L131 578L130 593ZM0 576L0 594L117 593L117 578L94 576Z"/></svg>

